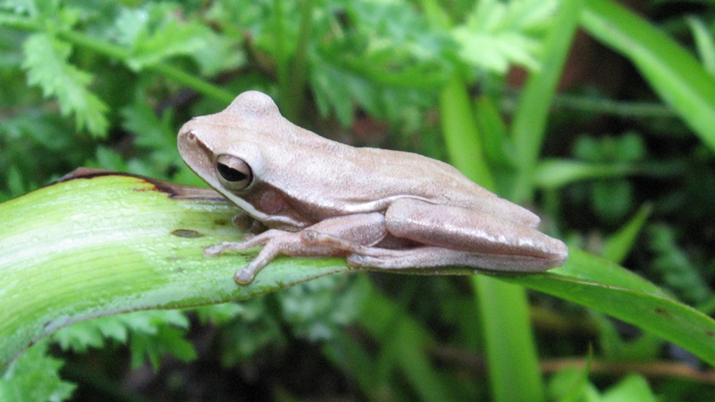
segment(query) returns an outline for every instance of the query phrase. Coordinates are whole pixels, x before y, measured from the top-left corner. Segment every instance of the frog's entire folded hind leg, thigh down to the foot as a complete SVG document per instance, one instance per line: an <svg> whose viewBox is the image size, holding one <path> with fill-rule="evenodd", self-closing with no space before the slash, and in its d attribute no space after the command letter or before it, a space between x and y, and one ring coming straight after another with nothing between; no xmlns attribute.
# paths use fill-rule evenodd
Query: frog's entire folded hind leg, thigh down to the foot
<svg viewBox="0 0 715 402"><path fill-rule="evenodd" d="M424 246L359 247L349 255L350 264L383 269L456 265L539 272L564 264L568 258L568 248L558 239L511 221L509 216L495 217L458 206L399 200L386 211L385 225L392 236Z"/></svg>

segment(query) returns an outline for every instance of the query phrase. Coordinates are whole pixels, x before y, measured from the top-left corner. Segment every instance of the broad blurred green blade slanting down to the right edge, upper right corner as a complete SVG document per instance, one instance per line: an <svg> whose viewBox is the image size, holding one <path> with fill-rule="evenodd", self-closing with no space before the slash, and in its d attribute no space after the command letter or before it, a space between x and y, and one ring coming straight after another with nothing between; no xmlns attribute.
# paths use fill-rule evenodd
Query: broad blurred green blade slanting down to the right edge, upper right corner
<svg viewBox="0 0 715 402"><path fill-rule="evenodd" d="M677 42L623 5L589 0L584 28L626 56L653 90L715 150L715 78Z"/></svg>

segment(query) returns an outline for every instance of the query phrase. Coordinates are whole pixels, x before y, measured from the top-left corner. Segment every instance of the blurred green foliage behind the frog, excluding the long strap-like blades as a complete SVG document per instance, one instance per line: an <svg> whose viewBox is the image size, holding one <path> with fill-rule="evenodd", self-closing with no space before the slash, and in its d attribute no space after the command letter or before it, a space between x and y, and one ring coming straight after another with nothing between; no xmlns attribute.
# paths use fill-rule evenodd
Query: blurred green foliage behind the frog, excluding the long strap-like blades
<svg viewBox="0 0 715 402"><path fill-rule="evenodd" d="M630 3L715 74L711 4ZM0 201L79 166L202 185L176 131L247 89L326 137L449 161L437 103L455 76L476 126L498 133L483 151L493 187L508 196L519 144L503 138L559 6L0 0ZM577 34L526 203L570 246L712 314L713 150L659 91ZM617 249L610 236L624 230L634 240ZM490 400L473 292L461 277L342 275L237 304L80 322L30 348L0 378L0 395ZM547 398L715 398L715 376L688 371L700 366L684 350L554 297L531 301ZM575 358L593 373L569 366Z"/></svg>

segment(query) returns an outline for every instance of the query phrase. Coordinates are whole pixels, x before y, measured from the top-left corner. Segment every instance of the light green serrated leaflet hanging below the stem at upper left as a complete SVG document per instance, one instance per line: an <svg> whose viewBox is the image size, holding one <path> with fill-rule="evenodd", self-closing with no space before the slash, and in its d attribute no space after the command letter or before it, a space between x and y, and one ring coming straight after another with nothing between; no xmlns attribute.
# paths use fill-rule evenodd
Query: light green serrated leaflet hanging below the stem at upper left
<svg viewBox="0 0 715 402"><path fill-rule="evenodd" d="M30 85L38 85L45 96L56 96L63 115L74 113L77 127L104 137L109 126L108 108L88 90L92 76L67 62L71 46L46 33L32 34L22 45Z"/></svg>

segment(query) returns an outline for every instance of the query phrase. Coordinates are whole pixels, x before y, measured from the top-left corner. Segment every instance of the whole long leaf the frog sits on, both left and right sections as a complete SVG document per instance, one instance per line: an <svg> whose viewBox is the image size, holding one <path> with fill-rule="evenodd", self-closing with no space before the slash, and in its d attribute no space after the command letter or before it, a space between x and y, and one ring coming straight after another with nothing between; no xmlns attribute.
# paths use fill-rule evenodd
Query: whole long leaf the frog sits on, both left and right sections
<svg viewBox="0 0 715 402"><path fill-rule="evenodd" d="M202 249L236 239L231 217L237 209L211 196L176 197L176 189L186 188L98 175L0 204L0 367L71 322L245 299L350 271L338 258L277 258L251 285L236 285L233 273L254 252L206 258ZM710 317L617 264L576 249L570 255L545 274L494 278L631 322L715 365Z"/></svg>

